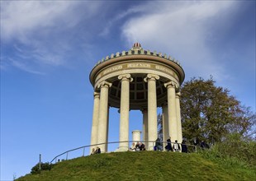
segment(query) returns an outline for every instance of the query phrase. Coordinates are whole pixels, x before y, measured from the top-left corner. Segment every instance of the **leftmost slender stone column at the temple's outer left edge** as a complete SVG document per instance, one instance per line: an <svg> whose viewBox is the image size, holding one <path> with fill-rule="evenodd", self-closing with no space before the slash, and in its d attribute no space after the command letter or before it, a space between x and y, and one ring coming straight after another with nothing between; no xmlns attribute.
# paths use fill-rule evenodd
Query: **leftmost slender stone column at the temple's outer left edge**
<svg viewBox="0 0 256 181"><path fill-rule="evenodd" d="M97 127L98 127L99 104L100 104L100 94L98 92L94 92L91 145L97 144ZM93 147L96 147L96 146L91 146L90 147L90 153L92 152Z"/></svg>

